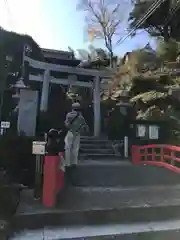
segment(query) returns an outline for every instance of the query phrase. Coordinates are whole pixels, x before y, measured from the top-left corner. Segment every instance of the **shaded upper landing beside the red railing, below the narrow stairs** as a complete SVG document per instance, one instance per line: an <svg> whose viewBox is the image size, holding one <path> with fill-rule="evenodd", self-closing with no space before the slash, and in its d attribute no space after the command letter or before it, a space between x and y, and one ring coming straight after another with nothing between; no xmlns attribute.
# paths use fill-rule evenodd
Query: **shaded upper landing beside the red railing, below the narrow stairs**
<svg viewBox="0 0 180 240"><path fill-rule="evenodd" d="M180 183L180 176L165 168L135 166L121 157L84 160L74 172L75 186L152 186Z"/></svg>

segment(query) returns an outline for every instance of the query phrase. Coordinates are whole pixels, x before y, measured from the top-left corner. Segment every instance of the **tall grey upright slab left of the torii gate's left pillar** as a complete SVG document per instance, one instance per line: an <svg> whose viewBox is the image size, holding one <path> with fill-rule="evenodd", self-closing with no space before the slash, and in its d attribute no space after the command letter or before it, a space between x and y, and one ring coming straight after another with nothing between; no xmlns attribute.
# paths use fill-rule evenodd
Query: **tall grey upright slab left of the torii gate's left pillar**
<svg viewBox="0 0 180 240"><path fill-rule="evenodd" d="M38 91L29 89L20 90L18 132L26 136L35 136L38 107Z"/></svg>

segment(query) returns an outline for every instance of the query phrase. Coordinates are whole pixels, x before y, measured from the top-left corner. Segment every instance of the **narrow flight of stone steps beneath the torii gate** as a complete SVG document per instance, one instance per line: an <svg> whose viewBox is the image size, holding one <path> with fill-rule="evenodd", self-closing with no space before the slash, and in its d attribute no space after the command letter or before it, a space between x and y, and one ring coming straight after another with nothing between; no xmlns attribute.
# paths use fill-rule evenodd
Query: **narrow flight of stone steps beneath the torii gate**
<svg viewBox="0 0 180 240"><path fill-rule="evenodd" d="M121 158L121 154L114 150L112 141L106 137L81 137L80 160L120 160Z"/></svg>

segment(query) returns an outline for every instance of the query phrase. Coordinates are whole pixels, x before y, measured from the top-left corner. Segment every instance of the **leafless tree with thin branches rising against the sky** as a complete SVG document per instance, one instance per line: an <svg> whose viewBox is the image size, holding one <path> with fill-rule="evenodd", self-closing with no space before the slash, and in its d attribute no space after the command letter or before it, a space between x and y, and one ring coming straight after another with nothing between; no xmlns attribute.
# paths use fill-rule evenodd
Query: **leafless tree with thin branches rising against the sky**
<svg viewBox="0 0 180 240"><path fill-rule="evenodd" d="M94 39L104 40L111 62L114 38L121 33L124 2L113 0L79 0L78 9L86 12L86 24L94 31Z"/></svg>

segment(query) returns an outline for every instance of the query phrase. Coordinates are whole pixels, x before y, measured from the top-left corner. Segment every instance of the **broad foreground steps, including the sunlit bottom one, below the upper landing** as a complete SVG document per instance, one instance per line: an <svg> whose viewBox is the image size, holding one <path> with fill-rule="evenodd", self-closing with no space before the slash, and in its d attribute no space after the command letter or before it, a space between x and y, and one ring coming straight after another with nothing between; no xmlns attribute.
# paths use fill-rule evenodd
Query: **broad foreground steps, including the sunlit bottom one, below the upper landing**
<svg viewBox="0 0 180 240"><path fill-rule="evenodd" d="M13 240L179 240L180 185L71 187L50 209L24 191L12 229Z"/></svg>

